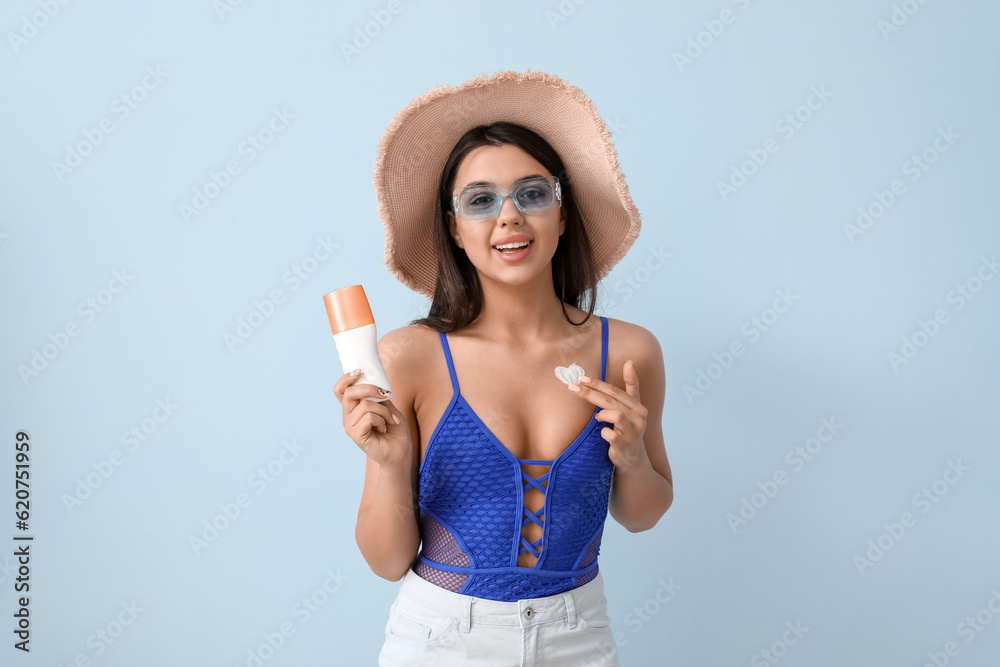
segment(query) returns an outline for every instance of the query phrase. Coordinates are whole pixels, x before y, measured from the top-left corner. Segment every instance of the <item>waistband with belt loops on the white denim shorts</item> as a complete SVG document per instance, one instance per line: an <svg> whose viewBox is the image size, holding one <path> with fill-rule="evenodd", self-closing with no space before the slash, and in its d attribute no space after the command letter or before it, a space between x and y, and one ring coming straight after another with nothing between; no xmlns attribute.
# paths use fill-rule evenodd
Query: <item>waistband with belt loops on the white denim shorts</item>
<svg viewBox="0 0 1000 667"><path fill-rule="evenodd" d="M503 602L455 593L407 570L399 588L400 598L412 598L439 614L460 619L460 628L469 632L472 623L520 625L527 627L567 619L576 625L577 611L604 603L604 578L600 571L579 588L541 598Z"/></svg>

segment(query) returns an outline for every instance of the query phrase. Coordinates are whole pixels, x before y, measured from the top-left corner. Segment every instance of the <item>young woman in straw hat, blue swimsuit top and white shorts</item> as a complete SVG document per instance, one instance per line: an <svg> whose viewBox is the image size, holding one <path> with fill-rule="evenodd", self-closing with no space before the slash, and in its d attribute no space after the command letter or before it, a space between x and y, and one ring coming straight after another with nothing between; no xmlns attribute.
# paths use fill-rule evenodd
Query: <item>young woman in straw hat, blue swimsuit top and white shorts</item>
<svg viewBox="0 0 1000 667"><path fill-rule="evenodd" d="M367 454L358 545L402 579L379 664L617 665L605 518L652 528L673 480L659 344L593 317L639 231L603 122L530 70L437 87L390 124L375 188L386 265L432 297L379 342L389 400L334 387Z"/></svg>

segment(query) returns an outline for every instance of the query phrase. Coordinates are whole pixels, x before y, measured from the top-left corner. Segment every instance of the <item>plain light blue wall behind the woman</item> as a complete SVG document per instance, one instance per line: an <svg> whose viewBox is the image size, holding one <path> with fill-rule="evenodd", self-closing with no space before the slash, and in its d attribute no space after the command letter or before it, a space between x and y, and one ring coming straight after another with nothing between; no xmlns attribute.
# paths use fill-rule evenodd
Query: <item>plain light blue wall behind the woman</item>
<svg viewBox="0 0 1000 667"><path fill-rule="evenodd" d="M918 666L949 641L949 664L995 664L1000 280L975 278L1000 251L996 3L910 0L919 11L883 34L888 0L400 0L350 58L341 43L387 3L48 4L37 34L24 21L39 0L0 12L0 542L16 532L19 429L36 536L30 655L11 647L15 562L0 547L0 663L247 665L288 623L268 667L374 664L397 584L354 541L364 455L332 394L322 295L363 283L383 333L426 314L382 264L378 139L435 84L530 68L582 88L616 130L643 228L598 312L652 331L667 371L676 500L645 533L609 519L601 554L623 664L773 664L759 652L777 643L782 665ZM711 37L703 22L725 9ZM707 46L678 66L699 33ZM147 67L163 79L122 118L112 105ZM813 87L831 96L785 138L776 123ZM241 143L275 109L294 118L250 161ZM52 163L104 118L113 132L60 180ZM939 128L957 140L910 180L904 163ZM724 200L717 183L771 137L777 152ZM179 206L229 160L240 173L185 222ZM851 242L844 226L894 179L905 193ZM286 280L318 239L333 255ZM649 270L654 249L670 257ZM115 271L132 278L88 319L79 304ZM949 293L970 279L981 289L959 309ZM273 315L227 347L276 289ZM751 341L744 323L777 290L797 300ZM894 367L938 309L947 323ZM22 378L71 322L78 335ZM734 341L742 356L710 369ZM684 385L709 370L689 400ZM178 406L159 424L158 399ZM842 428L795 470L786 452L823 418ZM130 450L122 434L143 420L155 432ZM254 481L291 441L304 449ZM68 509L115 450L121 465ZM967 472L915 504L949 461ZM787 483L734 531L727 515L778 471ZM251 504L195 554L189 538L241 493ZM889 537L907 511L915 525ZM859 571L880 537L891 548ZM328 572L339 589L296 613ZM135 622L98 641L133 601ZM959 624L977 612L991 623L967 642ZM808 631L783 646L796 622Z"/></svg>

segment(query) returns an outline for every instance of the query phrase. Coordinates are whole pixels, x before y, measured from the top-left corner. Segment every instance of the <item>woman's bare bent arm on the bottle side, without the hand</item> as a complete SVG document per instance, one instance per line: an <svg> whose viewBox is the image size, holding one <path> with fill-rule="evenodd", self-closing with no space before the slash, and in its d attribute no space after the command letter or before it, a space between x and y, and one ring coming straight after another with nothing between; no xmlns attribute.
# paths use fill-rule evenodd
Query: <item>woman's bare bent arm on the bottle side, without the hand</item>
<svg viewBox="0 0 1000 667"><path fill-rule="evenodd" d="M420 431L413 408L412 362L418 341L412 327L390 331L379 340L379 358L392 387L391 402L402 415L398 428L405 435L409 454L392 464L379 464L366 457L365 485L361 493L354 535L372 572L399 581L406 574L420 547L417 514L417 471ZM401 436L402 437L402 436Z"/></svg>

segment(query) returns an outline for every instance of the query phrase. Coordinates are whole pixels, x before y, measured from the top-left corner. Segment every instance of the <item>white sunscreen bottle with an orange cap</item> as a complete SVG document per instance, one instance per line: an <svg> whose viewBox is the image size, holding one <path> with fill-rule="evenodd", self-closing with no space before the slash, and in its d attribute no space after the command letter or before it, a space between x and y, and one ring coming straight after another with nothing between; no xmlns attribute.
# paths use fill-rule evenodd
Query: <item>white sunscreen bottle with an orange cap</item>
<svg viewBox="0 0 1000 667"><path fill-rule="evenodd" d="M351 285L334 290L323 297L326 314L330 318L330 329L337 344L337 353L344 372L361 369L361 377L355 384L373 384L392 391L386 377L382 360L378 356L378 334L375 332L375 318L361 285ZM368 400L385 401L385 398L366 396Z"/></svg>

